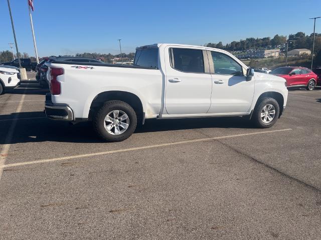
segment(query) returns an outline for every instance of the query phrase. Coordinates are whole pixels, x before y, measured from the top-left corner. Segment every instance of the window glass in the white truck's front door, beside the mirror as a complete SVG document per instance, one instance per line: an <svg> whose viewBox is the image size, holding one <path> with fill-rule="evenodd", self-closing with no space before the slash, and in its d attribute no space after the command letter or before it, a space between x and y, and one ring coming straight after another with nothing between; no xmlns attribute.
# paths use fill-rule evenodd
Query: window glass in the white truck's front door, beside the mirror
<svg viewBox="0 0 321 240"><path fill-rule="evenodd" d="M242 66L232 57L216 51L211 53L214 63L214 74L243 76Z"/></svg>

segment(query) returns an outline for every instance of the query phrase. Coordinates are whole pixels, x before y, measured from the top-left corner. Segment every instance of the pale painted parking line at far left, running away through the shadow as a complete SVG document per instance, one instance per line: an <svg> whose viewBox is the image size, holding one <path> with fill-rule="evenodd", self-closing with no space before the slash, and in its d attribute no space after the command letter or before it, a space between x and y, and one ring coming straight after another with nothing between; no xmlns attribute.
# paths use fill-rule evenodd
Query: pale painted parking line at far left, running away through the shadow
<svg viewBox="0 0 321 240"><path fill-rule="evenodd" d="M4 166L5 163L6 163L6 158L7 158L7 155L8 155L9 149L10 149L10 145L11 145L10 142L12 140L12 137L13 137L16 125L17 125L17 119L18 119L18 116L19 116L19 112L21 112L25 96L26 96L26 94L23 94L22 97L21 97L21 101L19 102L19 105L18 105L17 110L16 110L16 112L18 114L16 115L16 117L14 117L12 119L12 124L11 124L11 126L9 128L9 131L8 131L8 134L6 136L5 142L7 142L7 144L5 144L3 146L3 148L2 148L2 150L0 152L0 168L1 168L0 169L0 180L1 180L1 177L2 177L2 173L3 173L3 167L2 166Z"/></svg>

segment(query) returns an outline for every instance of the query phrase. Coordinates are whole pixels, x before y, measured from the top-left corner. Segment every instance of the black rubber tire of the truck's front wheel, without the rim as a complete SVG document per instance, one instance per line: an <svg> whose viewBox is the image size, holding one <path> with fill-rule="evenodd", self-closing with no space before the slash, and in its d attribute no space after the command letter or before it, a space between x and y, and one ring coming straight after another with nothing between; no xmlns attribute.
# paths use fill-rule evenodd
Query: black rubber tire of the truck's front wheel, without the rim
<svg viewBox="0 0 321 240"><path fill-rule="evenodd" d="M274 113L273 119L271 121L264 122L263 121L264 116L262 116L263 117L263 119L262 119L261 113L263 111L263 108L269 104L271 104L274 107L275 113ZM255 106L255 109L254 109L254 112L252 115L252 120L253 120L253 123L259 128L271 127L277 121L279 113L280 113L280 106L279 106L278 102L272 97L263 97L258 100L258 102ZM268 114L268 115L271 117L270 114ZM265 118L267 120L269 120L267 117L265 117Z"/></svg>

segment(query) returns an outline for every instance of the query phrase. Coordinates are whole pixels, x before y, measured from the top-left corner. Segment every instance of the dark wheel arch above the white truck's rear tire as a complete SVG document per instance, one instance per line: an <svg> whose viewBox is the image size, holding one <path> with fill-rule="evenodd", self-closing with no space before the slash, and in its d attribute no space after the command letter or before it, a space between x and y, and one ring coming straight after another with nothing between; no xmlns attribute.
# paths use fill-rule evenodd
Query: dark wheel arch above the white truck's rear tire
<svg viewBox="0 0 321 240"><path fill-rule="evenodd" d="M104 104L104 102L109 100L120 100L128 103L136 112L137 122L143 124L144 111L140 98L134 93L120 90L103 91L97 94L90 104L88 119L92 119L93 114Z"/></svg>

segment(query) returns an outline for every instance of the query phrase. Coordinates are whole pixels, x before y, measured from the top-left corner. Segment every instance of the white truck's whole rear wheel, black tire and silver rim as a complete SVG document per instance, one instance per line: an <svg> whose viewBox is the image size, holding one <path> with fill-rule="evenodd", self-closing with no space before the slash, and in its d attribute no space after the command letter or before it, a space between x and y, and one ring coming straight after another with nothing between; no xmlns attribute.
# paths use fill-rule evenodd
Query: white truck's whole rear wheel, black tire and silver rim
<svg viewBox="0 0 321 240"><path fill-rule="evenodd" d="M123 141L136 129L137 116L134 109L119 100L106 101L93 117L93 127L106 141Z"/></svg>

